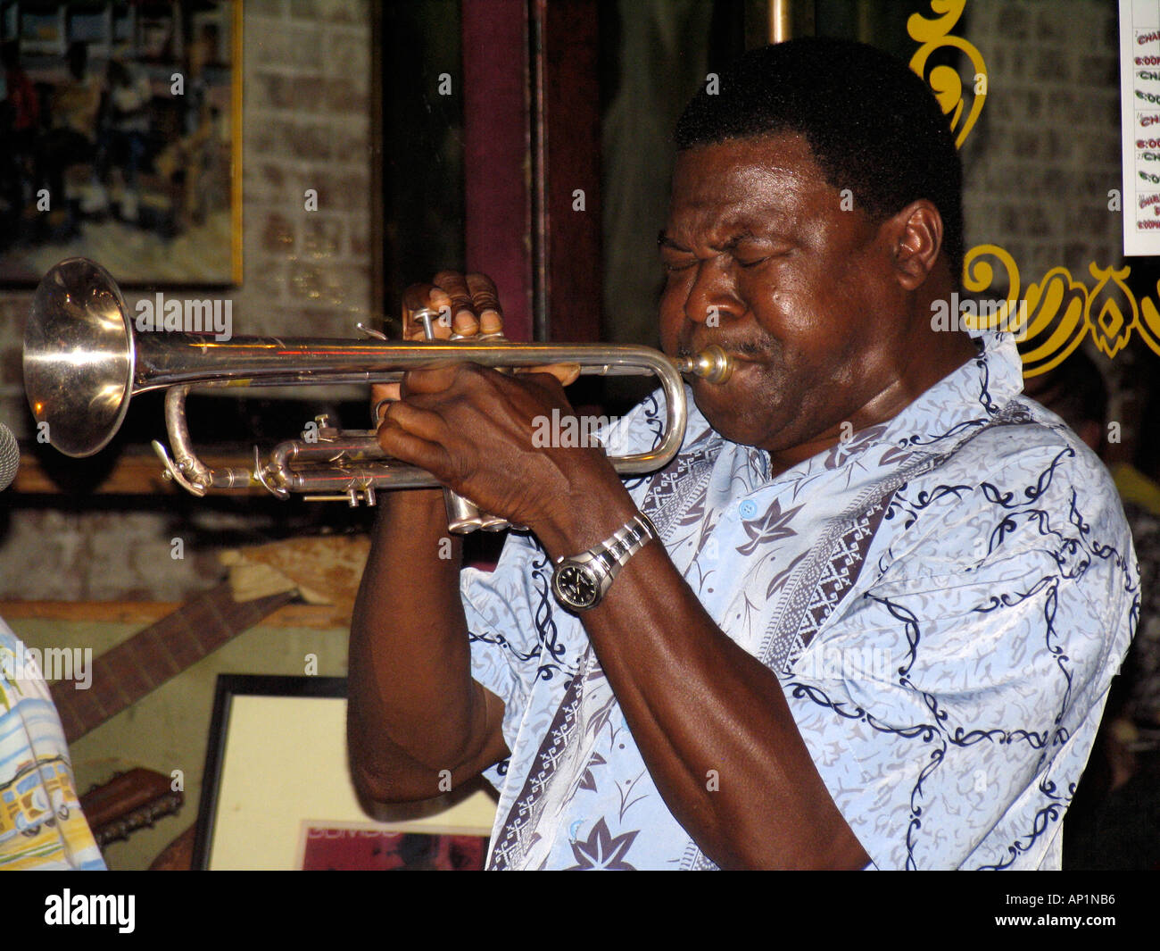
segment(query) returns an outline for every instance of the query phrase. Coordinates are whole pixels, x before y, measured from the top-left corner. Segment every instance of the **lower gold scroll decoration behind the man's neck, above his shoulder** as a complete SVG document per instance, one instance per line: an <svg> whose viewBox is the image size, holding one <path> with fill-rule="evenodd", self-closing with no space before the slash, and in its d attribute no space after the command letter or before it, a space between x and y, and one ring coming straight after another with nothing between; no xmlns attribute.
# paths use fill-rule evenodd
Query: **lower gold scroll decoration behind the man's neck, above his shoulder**
<svg viewBox="0 0 1160 951"><path fill-rule="evenodd" d="M987 301L994 282L994 258L1007 273L1007 296ZM1018 267L994 244L972 247L963 261L963 287L980 295L977 315L963 318L969 329L1001 330L1015 336L1023 355L1023 375L1038 376L1059 366L1088 334L1096 350L1115 356L1133 333L1160 354L1160 310L1151 296L1140 301L1125 283L1131 267L1088 265L1094 284L1076 281L1066 267L1053 267L1020 296ZM1157 284L1160 300L1160 282Z"/></svg>

